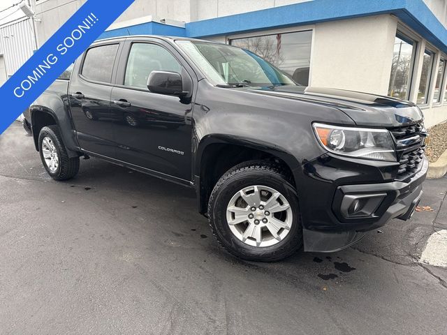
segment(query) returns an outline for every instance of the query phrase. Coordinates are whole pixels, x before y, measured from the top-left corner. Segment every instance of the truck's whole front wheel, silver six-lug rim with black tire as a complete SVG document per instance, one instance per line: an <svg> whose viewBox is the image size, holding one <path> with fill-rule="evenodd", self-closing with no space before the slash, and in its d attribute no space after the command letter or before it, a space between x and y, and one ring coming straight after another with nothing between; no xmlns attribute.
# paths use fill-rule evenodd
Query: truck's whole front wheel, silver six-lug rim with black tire
<svg viewBox="0 0 447 335"><path fill-rule="evenodd" d="M302 246L297 193L270 163L249 162L226 172L214 186L208 216L219 243L244 260L273 262Z"/></svg>

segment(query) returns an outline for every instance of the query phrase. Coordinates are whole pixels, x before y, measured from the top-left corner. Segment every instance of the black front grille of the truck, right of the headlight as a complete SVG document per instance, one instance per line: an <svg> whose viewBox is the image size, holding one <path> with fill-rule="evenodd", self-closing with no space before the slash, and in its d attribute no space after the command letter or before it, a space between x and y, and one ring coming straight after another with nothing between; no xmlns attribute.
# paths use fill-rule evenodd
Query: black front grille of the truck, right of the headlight
<svg viewBox="0 0 447 335"><path fill-rule="evenodd" d="M427 133L422 123L390 128L390 132L397 141L399 168L396 179L402 181L412 177L422 168Z"/></svg>

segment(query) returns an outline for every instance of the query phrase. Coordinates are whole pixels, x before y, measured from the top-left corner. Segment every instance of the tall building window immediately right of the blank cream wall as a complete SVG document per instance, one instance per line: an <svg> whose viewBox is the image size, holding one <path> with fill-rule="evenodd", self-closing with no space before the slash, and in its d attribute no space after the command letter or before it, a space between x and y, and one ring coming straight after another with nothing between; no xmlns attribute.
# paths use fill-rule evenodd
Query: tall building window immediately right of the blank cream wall
<svg viewBox="0 0 447 335"><path fill-rule="evenodd" d="M396 35L388 96L401 99L409 98L416 45L415 40L400 34Z"/></svg>

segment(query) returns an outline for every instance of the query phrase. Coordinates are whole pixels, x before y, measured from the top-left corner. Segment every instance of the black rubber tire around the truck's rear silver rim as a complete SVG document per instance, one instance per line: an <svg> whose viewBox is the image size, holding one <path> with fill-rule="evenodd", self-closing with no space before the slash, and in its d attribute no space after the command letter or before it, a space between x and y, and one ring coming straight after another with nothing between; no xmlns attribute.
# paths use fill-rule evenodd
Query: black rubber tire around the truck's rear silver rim
<svg viewBox="0 0 447 335"><path fill-rule="evenodd" d="M48 168L47 163L45 163L45 158L43 158L42 142L45 137L50 137L59 156L59 166L54 172L52 172L50 168ZM62 137L58 126L43 127L41 129L41 132L39 133L38 144L43 166L45 167L45 170L47 170L48 174L50 174L52 179L67 180L75 177L75 175L78 174L79 157L68 157L64 142L62 142Z"/></svg>

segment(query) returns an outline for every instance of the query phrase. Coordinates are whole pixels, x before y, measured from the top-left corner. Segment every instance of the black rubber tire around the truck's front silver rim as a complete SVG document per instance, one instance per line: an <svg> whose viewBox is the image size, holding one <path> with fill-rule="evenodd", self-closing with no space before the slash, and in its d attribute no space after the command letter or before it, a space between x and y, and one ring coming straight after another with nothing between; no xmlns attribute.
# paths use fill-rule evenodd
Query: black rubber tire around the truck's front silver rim
<svg viewBox="0 0 447 335"><path fill-rule="evenodd" d="M247 186L263 185L279 191L291 206L293 221L291 229L282 239L272 246L249 246L231 232L226 218L226 209L230 199ZM282 260L302 246L302 225L298 195L290 182L290 177L277 165L251 161L228 170L210 196L208 218L214 236L219 244L237 258L251 261L274 262Z"/></svg>

